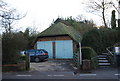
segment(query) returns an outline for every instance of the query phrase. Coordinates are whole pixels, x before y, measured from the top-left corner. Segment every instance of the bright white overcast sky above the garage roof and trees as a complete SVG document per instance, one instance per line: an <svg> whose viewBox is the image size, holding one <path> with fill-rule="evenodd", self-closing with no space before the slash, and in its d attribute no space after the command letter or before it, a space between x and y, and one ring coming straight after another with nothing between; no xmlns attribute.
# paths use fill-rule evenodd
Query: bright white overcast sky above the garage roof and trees
<svg viewBox="0 0 120 81"><path fill-rule="evenodd" d="M93 19L98 26L102 25L99 16L88 13L83 4L84 0L5 0L9 6L16 8L20 14L26 16L14 25L16 30L25 30L27 27L36 28L41 32L48 28L58 17L76 18L83 15L88 20Z"/></svg>

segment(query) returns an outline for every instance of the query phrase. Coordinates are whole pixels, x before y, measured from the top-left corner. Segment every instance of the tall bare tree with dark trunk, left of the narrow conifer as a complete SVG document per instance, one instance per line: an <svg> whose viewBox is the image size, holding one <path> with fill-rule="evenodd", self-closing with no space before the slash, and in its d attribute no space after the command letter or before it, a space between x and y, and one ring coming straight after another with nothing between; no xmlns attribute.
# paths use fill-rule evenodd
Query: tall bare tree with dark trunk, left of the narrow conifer
<svg viewBox="0 0 120 81"><path fill-rule="evenodd" d="M89 12L99 15L103 20L104 26L108 27L106 23L106 14L107 10L109 10L112 7L111 5L112 1L111 0L89 0L89 1L90 2L88 2L87 4Z"/></svg>

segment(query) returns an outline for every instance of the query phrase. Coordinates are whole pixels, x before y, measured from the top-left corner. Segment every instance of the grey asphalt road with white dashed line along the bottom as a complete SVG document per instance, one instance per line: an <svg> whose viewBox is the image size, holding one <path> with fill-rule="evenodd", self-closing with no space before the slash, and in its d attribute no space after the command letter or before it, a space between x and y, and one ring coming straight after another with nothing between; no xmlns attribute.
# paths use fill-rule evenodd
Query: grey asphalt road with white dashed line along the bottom
<svg viewBox="0 0 120 81"><path fill-rule="evenodd" d="M120 79L120 74L116 71L109 73L78 73L73 72L8 72L3 73L3 79Z"/></svg>

